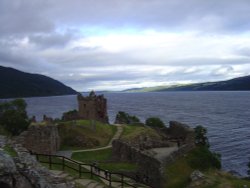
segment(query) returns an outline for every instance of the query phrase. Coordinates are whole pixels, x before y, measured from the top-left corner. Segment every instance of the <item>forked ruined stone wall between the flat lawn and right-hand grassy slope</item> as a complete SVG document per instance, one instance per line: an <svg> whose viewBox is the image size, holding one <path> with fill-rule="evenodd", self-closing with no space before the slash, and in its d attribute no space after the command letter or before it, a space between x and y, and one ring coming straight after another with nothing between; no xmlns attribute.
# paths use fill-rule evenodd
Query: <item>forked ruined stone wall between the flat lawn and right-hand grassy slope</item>
<svg viewBox="0 0 250 188"><path fill-rule="evenodd" d="M153 188L160 188L162 187L165 166L185 155L194 147L195 145L192 142L183 144L177 151L159 161L147 150L142 151L121 140L114 140L112 143L112 156L114 160L138 164L139 181L147 183Z"/></svg>

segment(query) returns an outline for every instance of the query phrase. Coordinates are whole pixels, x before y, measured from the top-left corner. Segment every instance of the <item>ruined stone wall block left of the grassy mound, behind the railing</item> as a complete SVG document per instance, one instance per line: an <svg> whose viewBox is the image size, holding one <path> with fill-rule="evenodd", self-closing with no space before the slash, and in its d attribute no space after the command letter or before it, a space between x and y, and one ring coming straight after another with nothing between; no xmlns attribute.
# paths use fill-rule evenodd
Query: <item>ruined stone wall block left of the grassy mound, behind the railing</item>
<svg viewBox="0 0 250 188"><path fill-rule="evenodd" d="M57 126L30 126L19 138L28 150L41 154L54 154L60 147Z"/></svg>

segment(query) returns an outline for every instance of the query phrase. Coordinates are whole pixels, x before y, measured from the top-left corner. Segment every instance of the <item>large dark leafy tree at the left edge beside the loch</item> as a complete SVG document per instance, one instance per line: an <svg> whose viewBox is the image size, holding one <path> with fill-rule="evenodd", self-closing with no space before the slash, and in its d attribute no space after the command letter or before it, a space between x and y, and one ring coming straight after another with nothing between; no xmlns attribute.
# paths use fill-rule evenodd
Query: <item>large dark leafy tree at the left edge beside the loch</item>
<svg viewBox="0 0 250 188"><path fill-rule="evenodd" d="M0 125L12 135L18 135L29 126L26 102L15 99L0 103Z"/></svg>

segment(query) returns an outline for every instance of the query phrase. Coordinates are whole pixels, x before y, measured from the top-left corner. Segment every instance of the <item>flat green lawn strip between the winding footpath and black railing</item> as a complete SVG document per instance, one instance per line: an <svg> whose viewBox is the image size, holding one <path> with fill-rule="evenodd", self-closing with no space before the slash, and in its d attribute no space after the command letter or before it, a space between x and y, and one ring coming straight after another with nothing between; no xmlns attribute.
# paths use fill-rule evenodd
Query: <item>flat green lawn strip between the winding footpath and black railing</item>
<svg viewBox="0 0 250 188"><path fill-rule="evenodd" d="M82 162L104 162L110 160L112 156L112 149L103 149L96 151L75 152L72 154L72 159Z"/></svg>

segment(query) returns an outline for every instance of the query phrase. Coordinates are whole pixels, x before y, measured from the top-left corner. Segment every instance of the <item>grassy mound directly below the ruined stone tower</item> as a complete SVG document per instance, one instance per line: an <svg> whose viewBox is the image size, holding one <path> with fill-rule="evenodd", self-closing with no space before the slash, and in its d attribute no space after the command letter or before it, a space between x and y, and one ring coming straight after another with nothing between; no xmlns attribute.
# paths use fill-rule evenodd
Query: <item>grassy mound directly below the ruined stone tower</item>
<svg viewBox="0 0 250 188"><path fill-rule="evenodd" d="M106 146L115 134L114 125L89 120L60 123L59 135L62 140L61 150L78 150Z"/></svg>

